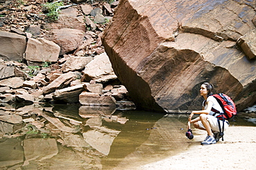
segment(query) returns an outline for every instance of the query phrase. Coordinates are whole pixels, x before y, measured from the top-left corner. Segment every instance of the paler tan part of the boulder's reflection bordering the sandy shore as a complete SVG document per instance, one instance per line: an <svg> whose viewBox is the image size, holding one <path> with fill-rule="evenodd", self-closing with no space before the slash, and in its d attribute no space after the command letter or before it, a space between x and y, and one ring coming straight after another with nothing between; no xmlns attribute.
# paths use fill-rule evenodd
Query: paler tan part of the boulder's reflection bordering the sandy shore
<svg viewBox="0 0 256 170"><path fill-rule="evenodd" d="M141 129L137 134L133 134L133 136L130 137L132 140L136 140L136 136L138 137L138 135L141 135L143 136L144 141L140 136L141 141L138 141L134 146L130 146L129 140L125 138L127 142L125 149L127 150L127 154L122 154L124 151L121 148L118 151L118 140L120 140L120 135L122 135L120 133L112 145L115 151L112 151L111 149L112 152L109 153L109 156L116 154L122 155L123 157L119 157L119 161L111 164L111 168L103 168L133 169L135 166L138 167L139 164L156 162L188 148L188 142L184 142L185 132L181 131L181 127L184 127L184 123L180 122L179 119L175 117L163 117L155 124L154 122L152 123L154 128L149 130ZM122 129L122 132L124 132L124 129ZM128 152L128 150L130 152ZM105 162L102 162L102 165L104 165L104 163Z"/></svg>

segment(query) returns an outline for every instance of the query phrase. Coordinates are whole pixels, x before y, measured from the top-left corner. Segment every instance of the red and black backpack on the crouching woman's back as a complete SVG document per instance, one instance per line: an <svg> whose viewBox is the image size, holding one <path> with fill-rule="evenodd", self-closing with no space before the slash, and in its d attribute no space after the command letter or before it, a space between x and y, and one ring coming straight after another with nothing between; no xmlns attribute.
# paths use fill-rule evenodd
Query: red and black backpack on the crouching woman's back
<svg viewBox="0 0 256 170"><path fill-rule="evenodd" d="M219 93L212 96L217 100L217 102L224 111L223 115L217 116L218 118L222 118L223 116L224 120L229 120L237 115L237 108L235 108L235 103L228 95Z"/></svg>

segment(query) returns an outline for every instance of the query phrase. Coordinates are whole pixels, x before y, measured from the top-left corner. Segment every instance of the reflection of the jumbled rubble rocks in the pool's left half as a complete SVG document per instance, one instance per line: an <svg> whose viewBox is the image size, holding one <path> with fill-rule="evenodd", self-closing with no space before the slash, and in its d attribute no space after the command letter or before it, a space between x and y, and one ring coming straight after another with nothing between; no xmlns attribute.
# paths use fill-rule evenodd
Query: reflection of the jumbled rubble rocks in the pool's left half
<svg viewBox="0 0 256 170"><path fill-rule="evenodd" d="M116 109L107 107L57 105L29 108L29 113L21 112L22 108L19 108L26 123L13 124L12 121L9 124L0 119L0 137L10 138L0 138L0 169L7 166L21 169L102 169L100 157L109 154L114 138L120 133L102 126L102 121L127 122L125 117L112 115ZM17 115L17 110L11 111L12 115ZM16 139L17 136L24 140Z"/></svg>

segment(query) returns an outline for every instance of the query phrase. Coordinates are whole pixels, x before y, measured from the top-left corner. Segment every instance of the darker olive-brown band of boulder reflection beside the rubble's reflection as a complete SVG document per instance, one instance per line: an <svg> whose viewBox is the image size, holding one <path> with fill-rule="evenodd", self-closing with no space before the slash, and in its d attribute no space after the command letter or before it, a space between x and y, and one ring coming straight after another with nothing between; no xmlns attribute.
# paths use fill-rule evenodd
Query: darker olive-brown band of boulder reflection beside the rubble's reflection
<svg viewBox="0 0 256 170"><path fill-rule="evenodd" d="M163 117L162 114L157 115L156 113L154 113L153 117L149 112L142 111L124 112L123 115L129 118L126 124L122 126L119 124L107 124L109 128L122 130L113 140L107 158L102 158L103 169L117 167L128 155L134 153L141 144L148 140L150 133L152 133L147 129L154 127L156 121Z"/></svg>

